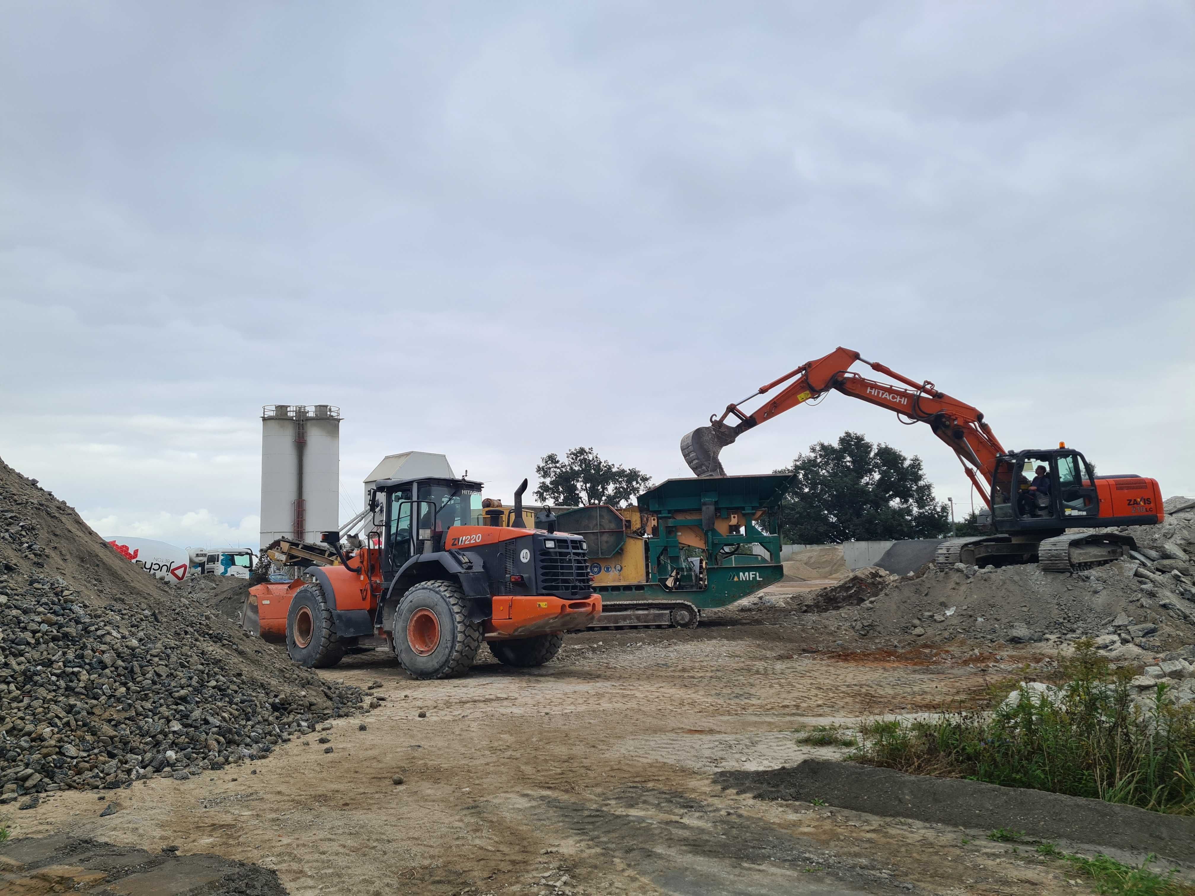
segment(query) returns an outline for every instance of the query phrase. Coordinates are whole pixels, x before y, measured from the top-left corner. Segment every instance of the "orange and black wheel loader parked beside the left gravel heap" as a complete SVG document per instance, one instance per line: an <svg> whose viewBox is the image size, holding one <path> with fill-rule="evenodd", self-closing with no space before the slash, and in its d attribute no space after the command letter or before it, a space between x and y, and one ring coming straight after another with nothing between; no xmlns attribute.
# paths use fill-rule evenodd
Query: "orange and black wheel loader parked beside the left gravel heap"
<svg viewBox="0 0 1195 896"><path fill-rule="evenodd" d="M244 627L286 640L306 667L336 665L384 638L413 679L468 671L482 642L507 665L541 665L564 632L601 614L586 541L568 533L471 524L468 479L384 479L369 493L374 529L337 560L312 564L289 583L250 589ZM514 520L522 520L522 492Z"/></svg>

